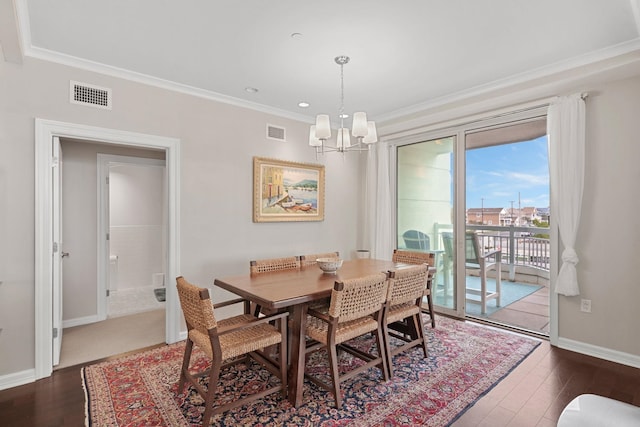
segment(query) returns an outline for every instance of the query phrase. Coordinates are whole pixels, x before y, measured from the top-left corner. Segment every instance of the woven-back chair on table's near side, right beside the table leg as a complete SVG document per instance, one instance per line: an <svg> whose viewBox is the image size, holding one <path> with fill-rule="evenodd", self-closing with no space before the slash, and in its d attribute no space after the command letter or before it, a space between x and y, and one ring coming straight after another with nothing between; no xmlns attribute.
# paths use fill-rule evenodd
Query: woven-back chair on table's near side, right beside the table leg
<svg viewBox="0 0 640 427"><path fill-rule="evenodd" d="M306 335L314 343L307 347L306 354L326 349L331 384L309 374L306 367L305 377L332 392L338 409L342 408L340 383L344 380L374 366L381 370L385 381L389 379L382 332L382 308L387 295L387 286L385 273L335 282L330 304L323 309L309 308ZM376 338L377 354L365 353L346 343L370 332ZM365 363L340 375L338 348L362 359Z"/></svg>

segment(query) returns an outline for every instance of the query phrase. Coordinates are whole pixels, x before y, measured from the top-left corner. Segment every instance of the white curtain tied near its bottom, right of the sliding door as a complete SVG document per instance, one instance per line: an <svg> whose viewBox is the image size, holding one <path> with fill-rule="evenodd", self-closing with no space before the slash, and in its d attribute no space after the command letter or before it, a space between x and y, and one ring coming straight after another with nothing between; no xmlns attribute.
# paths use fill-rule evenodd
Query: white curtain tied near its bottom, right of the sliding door
<svg viewBox="0 0 640 427"><path fill-rule="evenodd" d="M581 94L559 97L547 115L551 215L564 245L555 291L580 295L575 250L584 188L585 103Z"/></svg>

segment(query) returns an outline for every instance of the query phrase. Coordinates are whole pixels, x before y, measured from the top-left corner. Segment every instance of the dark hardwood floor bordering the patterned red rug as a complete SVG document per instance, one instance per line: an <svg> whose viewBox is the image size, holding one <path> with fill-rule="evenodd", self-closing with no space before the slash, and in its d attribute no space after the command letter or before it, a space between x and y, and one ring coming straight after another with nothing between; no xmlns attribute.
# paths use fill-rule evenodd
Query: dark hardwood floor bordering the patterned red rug
<svg viewBox="0 0 640 427"><path fill-rule="evenodd" d="M0 425L85 425L81 368L60 369L49 378L0 391ZM555 426L562 408L582 393L640 406L640 369L545 341L454 426Z"/></svg>

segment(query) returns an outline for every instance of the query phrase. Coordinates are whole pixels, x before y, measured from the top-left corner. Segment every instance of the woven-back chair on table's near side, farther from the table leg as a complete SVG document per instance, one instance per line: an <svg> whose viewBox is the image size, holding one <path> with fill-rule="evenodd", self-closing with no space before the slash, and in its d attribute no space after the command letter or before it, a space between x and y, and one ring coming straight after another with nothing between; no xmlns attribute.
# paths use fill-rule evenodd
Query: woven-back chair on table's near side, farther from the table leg
<svg viewBox="0 0 640 427"><path fill-rule="evenodd" d="M389 289L382 322L389 376L393 376L394 355L421 345L424 357L428 356L420 308L429 274L433 274L433 271L430 272L426 264L389 272ZM404 344L392 348L391 337Z"/></svg>

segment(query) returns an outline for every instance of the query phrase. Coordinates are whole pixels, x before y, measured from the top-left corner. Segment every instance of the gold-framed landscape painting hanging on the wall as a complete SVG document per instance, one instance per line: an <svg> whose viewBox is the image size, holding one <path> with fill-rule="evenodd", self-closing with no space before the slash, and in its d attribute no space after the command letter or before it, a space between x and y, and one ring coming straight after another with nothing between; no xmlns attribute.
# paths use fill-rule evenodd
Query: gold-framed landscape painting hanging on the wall
<svg viewBox="0 0 640 427"><path fill-rule="evenodd" d="M253 158L253 222L324 220L324 166Z"/></svg>

